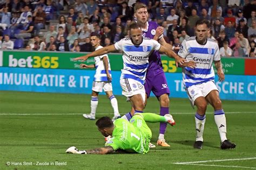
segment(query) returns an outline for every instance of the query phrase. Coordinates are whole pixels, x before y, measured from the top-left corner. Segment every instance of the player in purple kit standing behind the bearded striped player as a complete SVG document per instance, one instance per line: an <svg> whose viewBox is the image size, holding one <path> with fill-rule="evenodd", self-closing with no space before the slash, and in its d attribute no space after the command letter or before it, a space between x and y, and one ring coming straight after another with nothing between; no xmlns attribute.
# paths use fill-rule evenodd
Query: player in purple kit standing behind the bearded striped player
<svg viewBox="0 0 256 170"><path fill-rule="evenodd" d="M172 46L167 44L163 38L163 27L159 27L156 22L147 22L148 13L145 4L136 3L134 6L134 17L137 18L137 22L142 27L143 36L158 40L159 43L167 49L172 49ZM169 114L170 90L163 71L160 54L157 51L154 51L149 57L149 68L147 69L144 87L147 97L149 97L151 91L153 91L154 95L158 98L160 102L160 115ZM166 123L160 123L157 141L157 145L159 146L170 146L164 139L166 126Z"/></svg>

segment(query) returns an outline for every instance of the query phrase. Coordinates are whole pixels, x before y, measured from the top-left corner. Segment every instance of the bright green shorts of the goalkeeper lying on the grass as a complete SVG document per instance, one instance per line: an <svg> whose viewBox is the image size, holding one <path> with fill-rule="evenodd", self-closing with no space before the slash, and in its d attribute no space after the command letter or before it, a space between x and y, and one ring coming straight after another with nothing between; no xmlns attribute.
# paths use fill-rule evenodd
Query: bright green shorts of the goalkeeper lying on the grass
<svg viewBox="0 0 256 170"><path fill-rule="evenodd" d="M143 133L143 136L146 139L144 147L146 152L149 152L149 143L152 138L152 132L149 126L147 126L146 122L144 121L143 114L136 114L132 116L130 123Z"/></svg>

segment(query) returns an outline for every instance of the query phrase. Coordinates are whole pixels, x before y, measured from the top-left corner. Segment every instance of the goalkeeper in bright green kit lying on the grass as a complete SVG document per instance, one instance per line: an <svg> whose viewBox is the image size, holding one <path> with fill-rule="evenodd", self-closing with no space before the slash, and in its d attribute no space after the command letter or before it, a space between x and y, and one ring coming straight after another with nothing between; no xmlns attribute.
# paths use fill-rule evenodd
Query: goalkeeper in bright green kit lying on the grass
<svg viewBox="0 0 256 170"><path fill-rule="evenodd" d="M66 150L66 153L107 154L117 150L124 150L130 153L147 153L149 152L152 132L146 122L166 122L172 126L175 124L170 114L164 116L151 113L136 114L130 122L123 118L116 119L116 121L112 122L110 117L105 116L96 122L98 130L104 137L111 136L106 141L105 147L79 151L75 146L72 146Z"/></svg>

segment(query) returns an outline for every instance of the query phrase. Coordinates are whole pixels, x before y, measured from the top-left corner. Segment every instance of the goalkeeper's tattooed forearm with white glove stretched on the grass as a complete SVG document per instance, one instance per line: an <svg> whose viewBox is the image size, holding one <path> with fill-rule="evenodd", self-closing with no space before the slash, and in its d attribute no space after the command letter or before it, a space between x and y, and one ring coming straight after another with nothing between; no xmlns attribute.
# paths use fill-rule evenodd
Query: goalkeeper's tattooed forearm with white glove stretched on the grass
<svg viewBox="0 0 256 170"><path fill-rule="evenodd" d="M69 147L68 150L66 150L66 153L73 153L73 154L107 154L112 152L114 152L114 149L112 146L105 146L105 147L95 148L87 151L79 151L75 146L72 146L72 147Z"/></svg>

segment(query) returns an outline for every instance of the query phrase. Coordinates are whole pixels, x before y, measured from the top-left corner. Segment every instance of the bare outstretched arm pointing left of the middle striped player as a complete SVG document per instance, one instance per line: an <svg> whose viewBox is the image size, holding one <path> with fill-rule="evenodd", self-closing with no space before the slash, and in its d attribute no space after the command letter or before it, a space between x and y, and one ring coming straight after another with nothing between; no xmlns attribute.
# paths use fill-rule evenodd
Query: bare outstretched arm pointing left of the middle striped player
<svg viewBox="0 0 256 170"><path fill-rule="evenodd" d="M95 57L95 56L98 56L98 55L103 55L103 54L107 54L107 53L114 52L114 51L116 51L116 48L114 48L114 45L110 45L110 46L100 48L97 51L94 51L90 54L74 58L73 60L74 61L77 61L77 60L86 61L90 57Z"/></svg>

